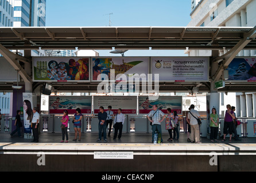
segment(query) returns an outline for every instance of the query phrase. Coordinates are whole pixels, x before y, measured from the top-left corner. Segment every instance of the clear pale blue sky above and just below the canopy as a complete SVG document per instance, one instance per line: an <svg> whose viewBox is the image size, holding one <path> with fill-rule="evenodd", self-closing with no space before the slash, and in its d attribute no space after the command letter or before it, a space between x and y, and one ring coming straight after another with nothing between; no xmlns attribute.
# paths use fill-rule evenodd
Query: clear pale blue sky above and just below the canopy
<svg viewBox="0 0 256 183"><path fill-rule="evenodd" d="M112 13L112 14L111 14ZM48 0L46 26L187 26L189 0ZM109 15L111 14L111 15ZM111 50L97 50L100 56ZM125 56L181 56L183 50L129 50ZM119 56L113 55L113 56Z"/></svg>

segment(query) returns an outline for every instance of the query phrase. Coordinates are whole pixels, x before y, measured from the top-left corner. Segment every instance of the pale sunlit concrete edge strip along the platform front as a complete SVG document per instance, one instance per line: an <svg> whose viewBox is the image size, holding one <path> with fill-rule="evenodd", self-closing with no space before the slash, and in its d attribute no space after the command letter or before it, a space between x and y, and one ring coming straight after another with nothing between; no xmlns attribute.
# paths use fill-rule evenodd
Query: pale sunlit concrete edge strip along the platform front
<svg viewBox="0 0 256 183"><path fill-rule="evenodd" d="M141 155L256 155L256 144L75 144L0 143L0 154L94 155L94 152L133 152Z"/></svg>

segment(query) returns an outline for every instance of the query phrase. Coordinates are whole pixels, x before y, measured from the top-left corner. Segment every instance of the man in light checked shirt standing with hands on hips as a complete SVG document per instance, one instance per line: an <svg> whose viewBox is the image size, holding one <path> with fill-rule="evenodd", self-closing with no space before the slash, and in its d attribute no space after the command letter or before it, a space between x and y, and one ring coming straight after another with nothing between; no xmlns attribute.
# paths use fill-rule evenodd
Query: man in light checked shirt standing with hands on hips
<svg viewBox="0 0 256 183"><path fill-rule="evenodd" d="M161 134L161 143L162 143L162 129L161 122L165 118L165 114L157 109L157 105L153 105L153 110L149 112L148 119L152 122L152 142L154 140L154 133L158 131Z"/></svg>

